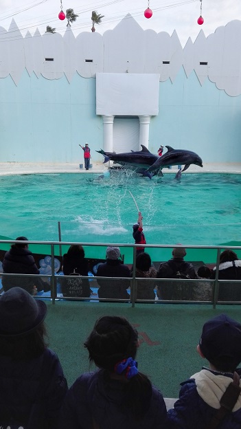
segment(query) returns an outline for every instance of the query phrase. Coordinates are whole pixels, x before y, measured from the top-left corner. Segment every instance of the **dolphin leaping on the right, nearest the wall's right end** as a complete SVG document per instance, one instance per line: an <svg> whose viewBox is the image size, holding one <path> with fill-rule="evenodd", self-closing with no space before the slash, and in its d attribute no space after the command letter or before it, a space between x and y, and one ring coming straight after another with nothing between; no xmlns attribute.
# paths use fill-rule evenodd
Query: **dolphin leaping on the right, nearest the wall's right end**
<svg viewBox="0 0 241 429"><path fill-rule="evenodd" d="M203 167L202 159L195 152L186 151L185 149L174 149L172 146L165 147L168 149L168 152L164 153L161 157L158 157L157 161L144 172L144 175L150 177L150 179L152 178L152 175L157 174L159 170L162 170L162 168L172 165L185 164L182 171L187 170L187 168L190 167L190 164Z"/></svg>

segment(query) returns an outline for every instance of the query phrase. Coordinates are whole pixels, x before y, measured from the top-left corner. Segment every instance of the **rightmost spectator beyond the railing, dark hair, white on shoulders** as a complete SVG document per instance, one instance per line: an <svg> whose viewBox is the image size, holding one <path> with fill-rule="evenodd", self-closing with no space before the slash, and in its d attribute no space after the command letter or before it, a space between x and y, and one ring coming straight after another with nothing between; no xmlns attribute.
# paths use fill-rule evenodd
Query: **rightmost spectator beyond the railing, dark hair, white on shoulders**
<svg viewBox="0 0 241 429"><path fill-rule="evenodd" d="M211 272L211 278L216 276L216 267ZM241 261L233 250L226 249L220 254L219 260L219 280L241 280ZM220 301L240 301L240 283L220 283L218 300Z"/></svg>

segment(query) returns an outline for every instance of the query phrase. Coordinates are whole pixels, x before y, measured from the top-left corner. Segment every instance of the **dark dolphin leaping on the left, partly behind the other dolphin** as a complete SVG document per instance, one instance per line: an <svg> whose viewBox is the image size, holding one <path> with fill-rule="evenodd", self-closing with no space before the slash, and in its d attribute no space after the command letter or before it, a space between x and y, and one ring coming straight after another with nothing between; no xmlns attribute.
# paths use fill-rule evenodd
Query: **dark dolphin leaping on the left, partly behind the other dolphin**
<svg viewBox="0 0 241 429"><path fill-rule="evenodd" d="M137 170L138 173L144 173L150 166L152 166L159 156L154 155L148 151L148 148L141 144L141 151L131 151L126 153L115 153L115 152L105 152L103 149L96 151L97 153L102 153L104 156L104 164L109 160L130 168L132 170Z"/></svg>

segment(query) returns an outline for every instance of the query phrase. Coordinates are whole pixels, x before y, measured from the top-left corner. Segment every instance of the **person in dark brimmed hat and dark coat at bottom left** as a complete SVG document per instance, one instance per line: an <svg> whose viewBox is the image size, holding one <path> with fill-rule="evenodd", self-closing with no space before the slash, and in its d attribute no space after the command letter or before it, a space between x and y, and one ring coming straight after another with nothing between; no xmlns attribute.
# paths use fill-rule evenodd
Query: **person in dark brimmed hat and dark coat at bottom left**
<svg viewBox="0 0 241 429"><path fill-rule="evenodd" d="M67 382L47 348L47 306L21 287L0 297L0 427L57 429Z"/></svg>

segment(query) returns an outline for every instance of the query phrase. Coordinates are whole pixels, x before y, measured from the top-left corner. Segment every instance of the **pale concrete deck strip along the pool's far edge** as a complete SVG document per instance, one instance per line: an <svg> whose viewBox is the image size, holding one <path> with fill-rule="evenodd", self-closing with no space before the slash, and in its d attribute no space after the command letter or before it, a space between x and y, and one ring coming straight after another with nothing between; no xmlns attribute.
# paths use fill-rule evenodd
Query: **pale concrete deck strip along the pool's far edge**
<svg viewBox="0 0 241 429"><path fill-rule="evenodd" d="M0 176L16 174L33 174L33 173L104 173L108 171L108 164L93 163L93 168L88 172L80 164L38 164L22 162L1 162ZM174 173L177 166L172 169L165 168L163 173ZM233 173L241 174L241 163L237 164L204 164L203 168L191 165L184 174L188 173Z"/></svg>

